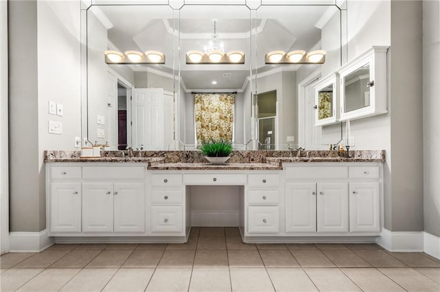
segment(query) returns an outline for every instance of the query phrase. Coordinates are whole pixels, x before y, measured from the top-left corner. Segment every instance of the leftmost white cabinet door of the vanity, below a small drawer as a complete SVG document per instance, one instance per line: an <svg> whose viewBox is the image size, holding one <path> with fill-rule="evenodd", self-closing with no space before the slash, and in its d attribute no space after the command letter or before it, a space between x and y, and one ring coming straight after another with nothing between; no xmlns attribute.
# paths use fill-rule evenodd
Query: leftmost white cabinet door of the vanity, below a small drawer
<svg viewBox="0 0 440 292"><path fill-rule="evenodd" d="M81 183L50 184L50 232L81 232Z"/></svg>

